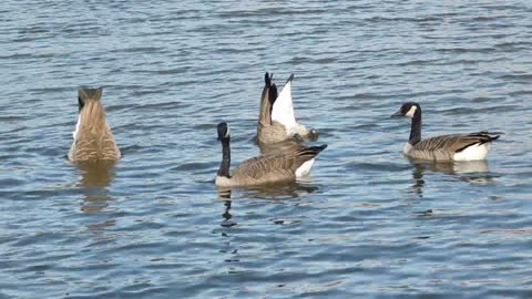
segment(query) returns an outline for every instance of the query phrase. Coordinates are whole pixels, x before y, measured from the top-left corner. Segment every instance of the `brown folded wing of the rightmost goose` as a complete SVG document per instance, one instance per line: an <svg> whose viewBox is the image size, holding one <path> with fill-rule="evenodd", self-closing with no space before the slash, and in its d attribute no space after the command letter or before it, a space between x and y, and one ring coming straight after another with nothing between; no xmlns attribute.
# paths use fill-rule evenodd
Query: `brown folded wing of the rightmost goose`
<svg viewBox="0 0 532 299"><path fill-rule="evenodd" d="M490 143L499 138L501 133L478 132L471 134L453 134L432 137L419 142L415 145L417 151L446 151L451 153L460 153L474 144Z"/></svg>

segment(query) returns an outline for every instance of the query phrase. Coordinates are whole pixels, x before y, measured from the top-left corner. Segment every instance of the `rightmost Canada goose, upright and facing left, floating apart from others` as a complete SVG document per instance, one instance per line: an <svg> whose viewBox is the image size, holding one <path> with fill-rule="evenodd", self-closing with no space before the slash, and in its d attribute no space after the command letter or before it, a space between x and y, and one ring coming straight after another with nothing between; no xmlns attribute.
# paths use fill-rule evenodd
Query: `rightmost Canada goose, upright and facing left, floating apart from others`
<svg viewBox="0 0 532 299"><path fill-rule="evenodd" d="M402 152L418 159L431 161L479 161L484 159L492 141L498 134L478 132L471 134L442 135L421 141L421 106L415 102L405 103L391 115L412 118L410 138Z"/></svg>

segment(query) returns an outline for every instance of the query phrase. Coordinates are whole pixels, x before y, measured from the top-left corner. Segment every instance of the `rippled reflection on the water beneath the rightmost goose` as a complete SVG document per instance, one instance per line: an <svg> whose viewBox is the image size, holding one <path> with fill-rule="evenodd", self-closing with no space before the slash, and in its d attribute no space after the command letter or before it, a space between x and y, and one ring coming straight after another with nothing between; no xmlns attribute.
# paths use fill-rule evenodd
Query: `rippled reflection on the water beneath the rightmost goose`
<svg viewBox="0 0 532 299"><path fill-rule="evenodd" d="M473 185L488 185L493 183L493 175L490 174L487 161L436 163L412 158L407 159L415 166L412 172L413 185L411 188L419 197L423 195L426 183L423 176L427 172L442 173Z"/></svg>

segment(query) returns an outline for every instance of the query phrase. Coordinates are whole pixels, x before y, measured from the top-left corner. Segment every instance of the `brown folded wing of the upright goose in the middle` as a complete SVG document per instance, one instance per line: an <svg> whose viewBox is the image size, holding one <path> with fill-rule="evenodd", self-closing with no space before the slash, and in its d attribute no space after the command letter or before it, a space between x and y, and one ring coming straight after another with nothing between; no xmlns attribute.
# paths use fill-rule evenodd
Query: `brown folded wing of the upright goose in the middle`
<svg viewBox="0 0 532 299"><path fill-rule="evenodd" d="M305 162L316 157L319 152L327 147L320 146L304 147L294 152L260 155L243 162L233 172L233 177L238 179L260 179L266 176L279 178L295 177L296 169Z"/></svg>

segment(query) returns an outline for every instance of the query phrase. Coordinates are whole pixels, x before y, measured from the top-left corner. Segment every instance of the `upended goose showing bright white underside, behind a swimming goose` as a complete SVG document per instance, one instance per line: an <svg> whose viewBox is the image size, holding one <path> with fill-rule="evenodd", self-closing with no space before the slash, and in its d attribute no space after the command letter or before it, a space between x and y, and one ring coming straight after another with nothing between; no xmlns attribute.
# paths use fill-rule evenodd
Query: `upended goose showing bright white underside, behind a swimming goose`
<svg viewBox="0 0 532 299"><path fill-rule="evenodd" d="M287 140L315 141L318 137L316 130L308 130L297 123L291 102L290 74L285 86L277 94L277 86L272 83L273 74L265 74L265 85L260 97L257 138L259 143L278 143Z"/></svg>

